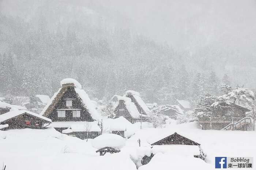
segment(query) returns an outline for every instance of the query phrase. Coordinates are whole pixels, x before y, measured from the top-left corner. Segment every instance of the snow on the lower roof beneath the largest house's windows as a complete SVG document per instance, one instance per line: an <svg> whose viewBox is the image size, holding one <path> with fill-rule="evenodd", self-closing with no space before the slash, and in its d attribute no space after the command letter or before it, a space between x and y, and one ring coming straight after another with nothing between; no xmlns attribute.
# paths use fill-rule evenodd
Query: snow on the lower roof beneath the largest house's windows
<svg viewBox="0 0 256 170"><path fill-rule="evenodd" d="M101 128L99 128L97 121L54 121L51 124L51 127L69 128L69 130L63 130L63 133L101 131Z"/></svg>

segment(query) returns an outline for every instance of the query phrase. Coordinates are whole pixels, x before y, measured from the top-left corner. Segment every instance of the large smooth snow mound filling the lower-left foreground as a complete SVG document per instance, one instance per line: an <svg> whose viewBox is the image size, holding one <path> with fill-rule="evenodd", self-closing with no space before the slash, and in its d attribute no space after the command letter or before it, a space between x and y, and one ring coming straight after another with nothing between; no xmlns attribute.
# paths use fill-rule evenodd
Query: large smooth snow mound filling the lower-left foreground
<svg viewBox="0 0 256 170"><path fill-rule="evenodd" d="M0 131L0 143L7 170L136 170L128 154L99 156L90 143L53 128Z"/></svg>

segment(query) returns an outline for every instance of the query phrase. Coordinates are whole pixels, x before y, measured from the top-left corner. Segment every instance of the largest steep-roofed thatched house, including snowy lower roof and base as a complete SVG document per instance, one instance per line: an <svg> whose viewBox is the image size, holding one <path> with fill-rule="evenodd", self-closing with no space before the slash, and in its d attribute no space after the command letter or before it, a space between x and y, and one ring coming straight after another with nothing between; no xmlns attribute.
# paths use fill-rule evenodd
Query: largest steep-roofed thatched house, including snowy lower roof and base
<svg viewBox="0 0 256 170"><path fill-rule="evenodd" d="M52 119L51 126L59 132L81 139L98 136L100 116L82 86L71 78L62 80L61 86L41 115Z"/></svg>

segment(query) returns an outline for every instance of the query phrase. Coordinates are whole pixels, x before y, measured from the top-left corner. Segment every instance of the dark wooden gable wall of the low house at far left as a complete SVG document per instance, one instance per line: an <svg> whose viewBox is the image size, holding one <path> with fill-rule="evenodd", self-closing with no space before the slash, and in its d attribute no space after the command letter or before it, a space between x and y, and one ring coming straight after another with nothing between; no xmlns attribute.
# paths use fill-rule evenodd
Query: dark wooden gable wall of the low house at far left
<svg viewBox="0 0 256 170"><path fill-rule="evenodd" d="M5 114L8 114L8 113L5 113ZM0 124L8 124L8 127L3 128L1 130L9 130L9 129L23 129L23 128L45 129L47 128L47 125L49 125L50 123L51 123L50 121L41 119L39 117L30 115L24 112L23 114L20 114L8 120L2 121Z"/></svg>

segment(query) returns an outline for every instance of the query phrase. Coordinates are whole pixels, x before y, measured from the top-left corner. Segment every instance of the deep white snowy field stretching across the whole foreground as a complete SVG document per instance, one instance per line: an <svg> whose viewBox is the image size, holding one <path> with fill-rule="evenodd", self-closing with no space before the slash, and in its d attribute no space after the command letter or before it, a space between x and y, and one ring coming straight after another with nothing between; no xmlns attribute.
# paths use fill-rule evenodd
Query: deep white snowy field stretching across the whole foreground
<svg viewBox="0 0 256 170"><path fill-rule="evenodd" d="M137 128L121 152L104 156L95 152L92 139L86 142L54 129L0 131L0 163L6 165L6 170L136 170L136 161L148 152L148 142L172 132L200 143L207 154L206 162L185 152L166 151L157 153L147 165L139 165L139 170L206 170L214 169L217 156L256 157L254 131L200 130L195 123L187 123L166 128Z"/></svg>

